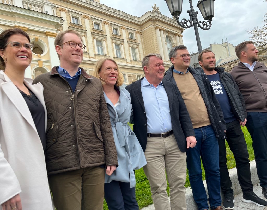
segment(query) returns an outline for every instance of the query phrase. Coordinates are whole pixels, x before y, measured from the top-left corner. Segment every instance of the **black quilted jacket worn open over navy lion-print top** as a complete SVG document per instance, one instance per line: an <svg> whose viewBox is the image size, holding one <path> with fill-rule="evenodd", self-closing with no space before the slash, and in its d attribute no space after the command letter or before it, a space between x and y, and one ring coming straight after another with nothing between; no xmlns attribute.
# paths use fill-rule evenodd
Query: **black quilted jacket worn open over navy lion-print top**
<svg viewBox="0 0 267 210"><path fill-rule="evenodd" d="M196 69L201 69L201 68L196 68ZM215 67L214 70L217 71L220 75L221 82L225 87L225 90L230 98L231 108L235 117L244 122L245 118L247 117L246 104L244 97L239 91L239 88L234 78L230 73L224 72L225 68Z"/></svg>

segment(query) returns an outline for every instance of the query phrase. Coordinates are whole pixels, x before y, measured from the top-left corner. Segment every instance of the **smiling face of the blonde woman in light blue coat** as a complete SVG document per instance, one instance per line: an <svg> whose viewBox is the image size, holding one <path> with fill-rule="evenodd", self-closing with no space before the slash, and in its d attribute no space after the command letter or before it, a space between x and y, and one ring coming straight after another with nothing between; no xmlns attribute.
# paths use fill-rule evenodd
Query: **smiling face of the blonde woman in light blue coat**
<svg viewBox="0 0 267 210"><path fill-rule="evenodd" d="M105 60L99 72L106 86L114 86L118 80L118 67L112 60Z"/></svg>

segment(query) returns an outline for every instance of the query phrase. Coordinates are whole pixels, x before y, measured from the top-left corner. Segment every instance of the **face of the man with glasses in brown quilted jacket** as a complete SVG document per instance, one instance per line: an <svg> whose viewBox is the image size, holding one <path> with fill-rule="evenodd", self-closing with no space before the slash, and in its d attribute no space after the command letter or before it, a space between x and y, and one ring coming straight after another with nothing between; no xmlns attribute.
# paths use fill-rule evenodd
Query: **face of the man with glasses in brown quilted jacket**
<svg viewBox="0 0 267 210"><path fill-rule="evenodd" d="M81 39L73 33L66 33L63 36L63 40L61 43L72 41L74 43L82 44ZM62 68L68 69L68 66L76 67L80 65L80 63L83 60L83 50L79 48L78 45L76 45L75 48L71 48L69 46L69 43L65 43L64 45L57 45L56 51L58 55L60 56L60 66Z"/></svg>

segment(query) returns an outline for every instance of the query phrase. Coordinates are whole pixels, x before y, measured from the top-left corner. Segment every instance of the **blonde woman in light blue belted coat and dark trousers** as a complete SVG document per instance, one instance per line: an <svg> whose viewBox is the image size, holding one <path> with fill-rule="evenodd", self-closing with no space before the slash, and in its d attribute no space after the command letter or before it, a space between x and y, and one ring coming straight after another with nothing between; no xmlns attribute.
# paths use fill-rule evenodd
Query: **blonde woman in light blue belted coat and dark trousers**
<svg viewBox="0 0 267 210"><path fill-rule="evenodd" d="M146 158L128 125L132 113L130 94L120 88L123 75L115 60L98 60L95 76L103 84L119 164L111 176L105 176L105 199L109 210L138 210L134 170L146 165Z"/></svg>

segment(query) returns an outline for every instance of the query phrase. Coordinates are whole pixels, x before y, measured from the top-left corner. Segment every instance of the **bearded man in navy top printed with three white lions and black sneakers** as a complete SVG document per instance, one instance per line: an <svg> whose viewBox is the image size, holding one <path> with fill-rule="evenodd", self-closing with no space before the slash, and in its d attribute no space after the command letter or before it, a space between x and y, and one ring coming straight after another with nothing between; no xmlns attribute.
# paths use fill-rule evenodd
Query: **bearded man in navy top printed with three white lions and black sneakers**
<svg viewBox="0 0 267 210"><path fill-rule="evenodd" d="M249 154L240 126L246 124L246 106L233 77L224 72L224 68L215 67L215 55L210 50L204 50L199 54L199 64L204 70L207 78L213 87L214 93L221 105L226 122L226 140L234 154L237 177L243 191L242 201L254 203L258 206L267 206L267 202L253 192L251 174L249 167ZM201 69L199 69L202 71ZM219 165L221 176L221 189L225 196L223 208L234 208L233 189L226 165L225 140L218 140L219 143Z"/></svg>

